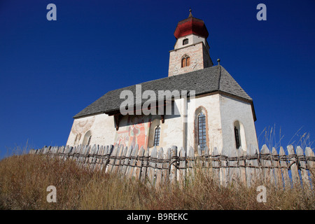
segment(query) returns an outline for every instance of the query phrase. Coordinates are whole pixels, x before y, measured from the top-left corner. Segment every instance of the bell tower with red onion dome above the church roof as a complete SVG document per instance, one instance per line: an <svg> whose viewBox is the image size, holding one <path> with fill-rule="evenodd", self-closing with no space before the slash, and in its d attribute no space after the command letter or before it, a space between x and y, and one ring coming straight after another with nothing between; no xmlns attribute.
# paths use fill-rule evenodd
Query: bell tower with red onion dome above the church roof
<svg viewBox="0 0 315 224"><path fill-rule="evenodd" d="M169 76L176 76L213 66L209 55L209 36L204 21L189 16L181 20L174 31L176 43L169 51Z"/></svg>

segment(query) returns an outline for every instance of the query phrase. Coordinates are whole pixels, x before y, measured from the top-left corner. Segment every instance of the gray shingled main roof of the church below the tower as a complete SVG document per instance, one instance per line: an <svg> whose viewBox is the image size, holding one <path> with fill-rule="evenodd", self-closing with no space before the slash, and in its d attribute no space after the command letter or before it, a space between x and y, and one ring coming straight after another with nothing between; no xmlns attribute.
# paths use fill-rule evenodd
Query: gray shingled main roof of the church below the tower
<svg viewBox="0 0 315 224"><path fill-rule="evenodd" d="M173 90L179 90L180 92L181 90L195 90L196 96L220 91L244 99L246 102L253 102L253 99L248 96L237 81L232 78L230 73L221 65L211 66L206 69L183 73L177 76L151 80L145 83L139 83L139 85L141 85L142 92L145 90L153 90L157 96L158 90L170 90L171 92ZM120 104L125 101L125 99L120 99L120 92L123 90L131 90L134 92L135 97L136 85L107 92L73 118L119 111ZM147 99L144 99L142 103L146 101ZM136 101L134 100L134 102Z"/></svg>

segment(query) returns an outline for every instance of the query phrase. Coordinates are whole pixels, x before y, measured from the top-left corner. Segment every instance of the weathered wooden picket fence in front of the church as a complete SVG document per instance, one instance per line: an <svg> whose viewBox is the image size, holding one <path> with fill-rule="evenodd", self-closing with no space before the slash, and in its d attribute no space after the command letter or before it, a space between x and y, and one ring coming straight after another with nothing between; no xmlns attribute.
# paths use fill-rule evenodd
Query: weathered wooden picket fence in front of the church
<svg viewBox="0 0 315 224"><path fill-rule="evenodd" d="M249 146L247 151L241 148L225 150L218 153L206 147L202 151L197 148L198 155L192 147L186 152L177 146L167 148L151 148L145 150L138 146L45 146L34 150L31 154L45 154L61 160L75 160L78 165L90 169L105 169L105 172L133 177L148 181L153 186L165 183L183 184L189 181L196 172L211 174L223 186L228 184L255 183L272 184L276 188L313 188L315 157L311 148L302 150L287 146L287 154L280 147L269 151L266 145L261 150Z"/></svg>

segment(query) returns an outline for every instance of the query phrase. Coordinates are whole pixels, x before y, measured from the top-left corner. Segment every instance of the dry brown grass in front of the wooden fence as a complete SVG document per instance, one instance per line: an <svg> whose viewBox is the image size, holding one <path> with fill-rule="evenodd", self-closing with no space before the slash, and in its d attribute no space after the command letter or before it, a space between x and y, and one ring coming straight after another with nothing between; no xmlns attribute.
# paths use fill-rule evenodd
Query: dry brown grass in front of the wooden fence
<svg viewBox="0 0 315 224"><path fill-rule="evenodd" d="M48 186L56 187L57 203L46 201ZM310 190L267 188L265 204L257 202L257 195L255 187L219 187L198 170L183 188L151 188L43 155L14 155L0 161L0 209L315 209Z"/></svg>

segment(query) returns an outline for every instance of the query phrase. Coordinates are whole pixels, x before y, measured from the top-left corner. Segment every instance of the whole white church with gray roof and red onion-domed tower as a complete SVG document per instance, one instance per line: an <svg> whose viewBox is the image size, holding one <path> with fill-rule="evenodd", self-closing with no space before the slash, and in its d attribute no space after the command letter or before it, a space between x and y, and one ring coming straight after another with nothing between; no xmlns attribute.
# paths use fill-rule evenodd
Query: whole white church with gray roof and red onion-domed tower
<svg viewBox="0 0 315 224"><path fill-rule="evenodd" d="M188 18L178 22L174 36L168 77L104 94L73 117L66 145L138 144L145 149L178 146L186 151L192 146L195 153L198 146L210 151L216 147L219 153L223 148L246 151L250 144L258 148L253 99L219 59L214 65L204 21L190 10ZM167 94L160 98L163 91ZM123 92L134 97L127 109ZM148 92L150 101L143 97ZM144 106L148 110L142 110Z"/></svg>

